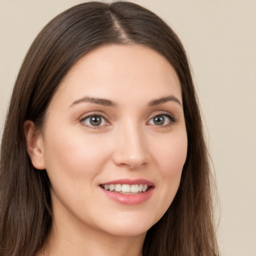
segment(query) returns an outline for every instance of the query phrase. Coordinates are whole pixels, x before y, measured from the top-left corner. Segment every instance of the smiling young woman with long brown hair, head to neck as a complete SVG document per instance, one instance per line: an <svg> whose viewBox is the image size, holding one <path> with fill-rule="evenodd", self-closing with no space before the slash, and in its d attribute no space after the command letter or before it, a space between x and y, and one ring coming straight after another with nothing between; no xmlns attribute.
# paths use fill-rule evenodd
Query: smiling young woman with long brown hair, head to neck
<svg viewBox="0 0 256 256"><path fill-rule="evenodd" d="M218 255L186 54L141 6L82 3L42 29L0 164L1 255Z"/></svg>

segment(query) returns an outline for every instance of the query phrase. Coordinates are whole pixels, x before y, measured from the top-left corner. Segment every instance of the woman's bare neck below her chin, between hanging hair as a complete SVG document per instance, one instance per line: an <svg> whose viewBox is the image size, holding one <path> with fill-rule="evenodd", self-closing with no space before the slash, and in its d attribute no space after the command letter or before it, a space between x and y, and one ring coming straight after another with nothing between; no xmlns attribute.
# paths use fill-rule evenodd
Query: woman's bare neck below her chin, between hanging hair
<svg viewBox="0 0 256 256"><path fill-rule="evenodd" d="M142 256L145 234L116 236L95 230L83 234L67 229L66 232L61 231L56 230L56 227L52 228L45 256Z"/></svg>

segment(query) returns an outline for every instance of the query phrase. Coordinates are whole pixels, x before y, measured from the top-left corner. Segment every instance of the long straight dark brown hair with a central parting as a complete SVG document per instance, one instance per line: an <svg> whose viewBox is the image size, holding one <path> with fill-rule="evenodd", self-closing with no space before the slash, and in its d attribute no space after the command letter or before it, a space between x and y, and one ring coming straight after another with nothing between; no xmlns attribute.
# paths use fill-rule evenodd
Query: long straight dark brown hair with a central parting
<svg viewBox="0 0 256 256"><path fill-rule="evenodd" d="M23 123L40 128L58 84L81 56L103 44L142 44L162 54L181 84L187 157L176 196L148 231L144 256L216 256L210 171L191 72L172 29L130 2L86 2L52 19L37 35L19 70L1 143L0 255L32 256L52 225L49 179L26 150Z"/></svg>

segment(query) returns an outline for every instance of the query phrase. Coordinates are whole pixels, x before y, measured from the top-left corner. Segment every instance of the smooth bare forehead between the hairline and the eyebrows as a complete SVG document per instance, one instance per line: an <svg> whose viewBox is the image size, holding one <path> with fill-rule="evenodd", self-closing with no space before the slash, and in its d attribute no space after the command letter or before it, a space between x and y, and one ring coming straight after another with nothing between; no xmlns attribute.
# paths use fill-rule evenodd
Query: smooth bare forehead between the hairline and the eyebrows
<svg viewBox="0 0 256 256"><path fill-rule="evenodd" d="M151 100L167 94L182 101L178 76L167 59L143 45L110 44L79 59L55 96L65 97L66 102L84 95L136 102L139 97Z"/></svg>

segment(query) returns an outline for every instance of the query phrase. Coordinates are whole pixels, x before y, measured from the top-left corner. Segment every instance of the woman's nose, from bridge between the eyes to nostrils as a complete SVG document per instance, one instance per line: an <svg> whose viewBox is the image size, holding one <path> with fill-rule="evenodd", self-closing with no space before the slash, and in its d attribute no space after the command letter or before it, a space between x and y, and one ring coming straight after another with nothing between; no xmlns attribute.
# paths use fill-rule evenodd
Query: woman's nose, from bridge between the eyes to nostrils
<svg viewBox="0 0 256 256"><path fill-rule="evenodd" d="M118 166L140 168L149 161L146 137L136 125L120 127L115 134L113 161Z"/></svg>

